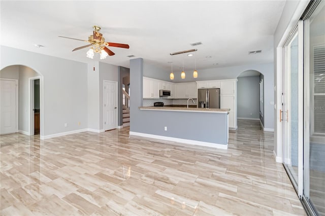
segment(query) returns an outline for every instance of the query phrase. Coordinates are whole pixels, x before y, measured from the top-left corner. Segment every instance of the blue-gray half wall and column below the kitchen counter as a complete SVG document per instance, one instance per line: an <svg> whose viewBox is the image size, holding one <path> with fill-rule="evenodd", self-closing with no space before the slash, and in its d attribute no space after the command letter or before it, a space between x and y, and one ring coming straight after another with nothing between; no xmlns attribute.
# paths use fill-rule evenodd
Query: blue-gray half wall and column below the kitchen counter
<svg viewBox="0 0 325 216"><path fill-rule="evenodd" d="M132 86L130 131L226 145L225 114L139 110L143 102L142 77L147 74L144 69L149 68L145 64L142 58L130 61L131 83L139 83ZM214 121L211 121L211 116ZM200 123L205 127L198 127Z"/></svg>

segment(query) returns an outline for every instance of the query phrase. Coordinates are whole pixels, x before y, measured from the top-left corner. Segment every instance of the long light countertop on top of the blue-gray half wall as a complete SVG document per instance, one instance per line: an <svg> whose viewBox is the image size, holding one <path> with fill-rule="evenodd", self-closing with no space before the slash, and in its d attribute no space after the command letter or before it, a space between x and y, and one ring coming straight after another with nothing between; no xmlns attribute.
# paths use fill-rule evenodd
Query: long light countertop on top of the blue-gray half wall
<svg viewBox="0 0 325 216"><path fill-rule="evenodd" d="M217 108L197 108L197 107L169 107L169 106L139 106L140 110L157 110L157 111L176 111L176 112L198 112L198 113L226 113L230 109L217 109Z"/></svg>

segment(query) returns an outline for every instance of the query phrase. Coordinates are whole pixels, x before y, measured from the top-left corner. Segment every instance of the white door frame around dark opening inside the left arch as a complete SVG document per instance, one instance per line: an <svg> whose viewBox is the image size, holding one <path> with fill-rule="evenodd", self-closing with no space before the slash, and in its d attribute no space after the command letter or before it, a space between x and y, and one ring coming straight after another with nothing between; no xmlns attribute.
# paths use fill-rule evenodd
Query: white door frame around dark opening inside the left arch
<svg viewBox="0 0 325 216"><path fill-rule="evenodd" d="M34 81L40 80L40 138L44 139L44 100L43 100L43 92L44 92L44 85L43 85L43 77L30 77L28 78L28 135L34 135Z"/></svg>

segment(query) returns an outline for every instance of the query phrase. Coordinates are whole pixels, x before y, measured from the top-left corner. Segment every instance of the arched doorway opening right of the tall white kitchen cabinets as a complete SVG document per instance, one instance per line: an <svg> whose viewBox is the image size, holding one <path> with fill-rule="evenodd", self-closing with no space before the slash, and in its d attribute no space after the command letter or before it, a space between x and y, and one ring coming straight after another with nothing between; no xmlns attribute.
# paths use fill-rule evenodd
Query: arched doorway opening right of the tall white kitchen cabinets
<svg viewBox="0 0 325 216"><path fill-rule="evenodd" d="M261 121L264 126L264 75L245 70L237 77L237 119Z"/></svg>

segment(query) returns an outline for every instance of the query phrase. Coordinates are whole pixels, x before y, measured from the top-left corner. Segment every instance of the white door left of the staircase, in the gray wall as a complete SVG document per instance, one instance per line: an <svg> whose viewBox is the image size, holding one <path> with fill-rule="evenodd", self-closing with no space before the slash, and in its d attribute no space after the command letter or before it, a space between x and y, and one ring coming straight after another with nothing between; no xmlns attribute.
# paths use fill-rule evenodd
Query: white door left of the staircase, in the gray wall
<svg viewBox="0 0 325 216"><path fill-rule="evenodd" d="M104 82L104 129L117 127L117 83Z"/></svg>

